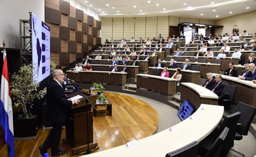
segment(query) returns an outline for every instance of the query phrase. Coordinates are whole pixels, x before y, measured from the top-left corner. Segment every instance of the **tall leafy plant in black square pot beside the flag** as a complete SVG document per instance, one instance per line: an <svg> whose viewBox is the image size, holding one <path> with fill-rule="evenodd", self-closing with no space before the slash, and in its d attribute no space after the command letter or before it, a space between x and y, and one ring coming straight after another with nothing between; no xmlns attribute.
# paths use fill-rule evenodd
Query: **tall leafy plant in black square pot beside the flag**
<svg viewBox="0 0 256 157"><path fill-rule="evenodd" d="M33 113L33 102L38 99L42 99L46 94L46 88L39 90L40 83L33 80L36 73L33 71L37 70L34 64L23 65L17 73L12 75L12 81L10 83L11 94L14 100L14 105L21 109L14 115L14 136L29 136L28 131L35 133L32 128L36 129L36 133L39 130L39 126L31 126L37 124L38 121L32 121L32 119L38 118L39 113ZM27 121L29 120L29 121ZM22 124L24 122L25 124ZM21 128L19 128L21 127ZM25 129L26 128L26 129Z"/></svg>

